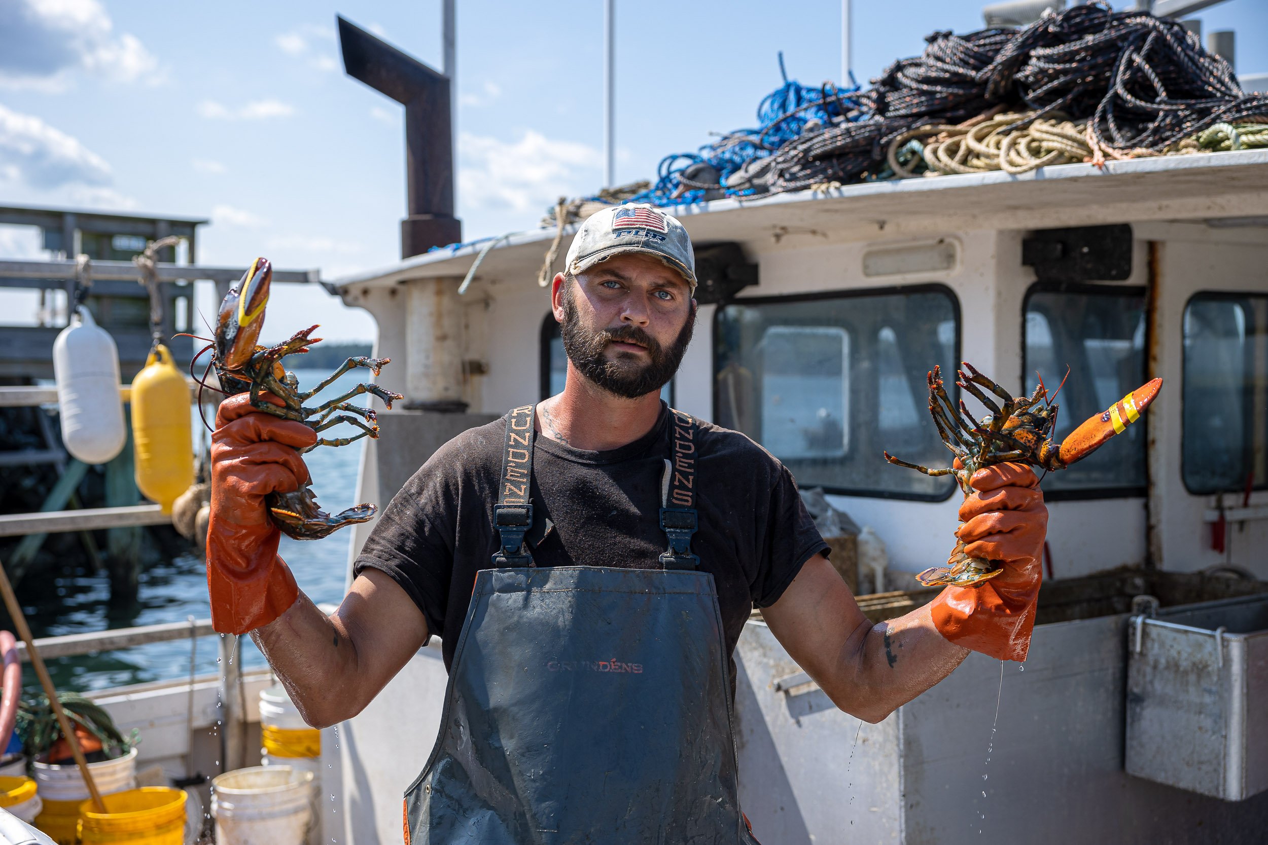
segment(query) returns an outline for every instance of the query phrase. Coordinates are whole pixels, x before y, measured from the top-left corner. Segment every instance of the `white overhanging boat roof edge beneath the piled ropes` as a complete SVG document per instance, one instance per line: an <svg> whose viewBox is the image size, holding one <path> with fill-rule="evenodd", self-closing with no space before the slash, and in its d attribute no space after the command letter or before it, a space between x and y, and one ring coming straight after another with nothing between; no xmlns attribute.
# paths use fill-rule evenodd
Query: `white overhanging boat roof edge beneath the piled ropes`
<svg viewBox="0 0 1268 845"><path fill-rule="evenodd" d="M1035 229L1131 220L1211 219L1268 226L1268 149L1188 153L1003 171L858 182L666 210L696 245L733 241L762 251L831 242ZM564 227L560 257L577 224ZM378 288L411 279L464 276L481 253L481 279L535 271L555 228L454 245L336 279L335 288Z"/></svg>

